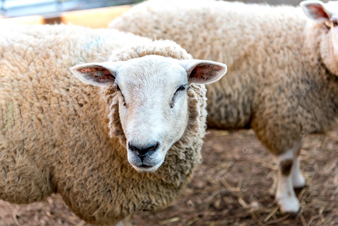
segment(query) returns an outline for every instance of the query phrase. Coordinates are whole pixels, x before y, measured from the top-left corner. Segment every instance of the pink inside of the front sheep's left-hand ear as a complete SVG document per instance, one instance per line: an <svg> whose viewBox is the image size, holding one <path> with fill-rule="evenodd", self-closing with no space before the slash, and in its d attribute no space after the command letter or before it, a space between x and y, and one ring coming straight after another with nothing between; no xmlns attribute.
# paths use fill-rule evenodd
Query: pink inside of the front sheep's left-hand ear
<svg viewBox="0 0 338 226"><path fill-rule="evenodd" d="M87 79L99 84L111 82L115 78L115 75L104 67L82 68L80 72L86 74Z"/></svg>

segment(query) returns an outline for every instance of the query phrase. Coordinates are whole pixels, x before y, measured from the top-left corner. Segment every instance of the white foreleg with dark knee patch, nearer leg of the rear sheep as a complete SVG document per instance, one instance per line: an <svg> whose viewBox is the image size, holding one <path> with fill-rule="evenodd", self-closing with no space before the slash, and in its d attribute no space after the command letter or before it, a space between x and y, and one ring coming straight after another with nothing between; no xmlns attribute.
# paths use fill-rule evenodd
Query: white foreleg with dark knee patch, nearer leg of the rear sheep
<svg viewBox="0 0 338 226"><path fill-rule="evenodd" d="M276 201L282 212L298 212L299 202L293 189L292 168L295 162L295 150L291 149L277 156L278 183Z"/></svg>

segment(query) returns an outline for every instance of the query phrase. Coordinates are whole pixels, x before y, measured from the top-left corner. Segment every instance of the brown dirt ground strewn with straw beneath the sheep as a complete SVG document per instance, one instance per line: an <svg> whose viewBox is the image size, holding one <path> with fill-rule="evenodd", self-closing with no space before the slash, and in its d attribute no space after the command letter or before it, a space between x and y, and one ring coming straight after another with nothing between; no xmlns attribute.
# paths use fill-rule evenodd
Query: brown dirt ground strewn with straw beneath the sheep
<svg viewBox="0 0 338 226"><path fill-rule="evenodd" d="M304 136L301 167L308 186L297 190L298 214L274 202L276 165L252 131L209 130L192 182L161 212L134 214L136 226L338 225L338 130ZM60 196L14 205L0 201L0 226L90 226Z"/></svg>

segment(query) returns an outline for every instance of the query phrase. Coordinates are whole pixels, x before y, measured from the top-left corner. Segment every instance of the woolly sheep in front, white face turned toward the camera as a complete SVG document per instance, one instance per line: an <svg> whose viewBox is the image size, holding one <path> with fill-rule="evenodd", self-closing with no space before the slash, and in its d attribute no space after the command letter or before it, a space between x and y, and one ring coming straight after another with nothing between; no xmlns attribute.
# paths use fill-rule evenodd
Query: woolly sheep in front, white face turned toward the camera
<svg viewBox="0 0 338 226"><path fill-rule="evenodd" d="M70 25L3 27L0 53L0 199L59 193L89 223L129 225L192 178L204 84L224 64L172 41Z"/></svg>

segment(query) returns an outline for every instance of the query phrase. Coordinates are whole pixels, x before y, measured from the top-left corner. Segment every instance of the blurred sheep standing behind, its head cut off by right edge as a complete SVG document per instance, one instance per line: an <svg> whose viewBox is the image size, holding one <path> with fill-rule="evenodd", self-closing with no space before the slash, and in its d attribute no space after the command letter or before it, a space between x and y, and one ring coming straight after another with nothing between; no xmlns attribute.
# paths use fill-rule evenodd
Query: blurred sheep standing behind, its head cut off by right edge
<svg viewBox="0 0 338 226"><path fill-rule="evenodd" d="M338 116L338 2L300 5L150 0L109 26L226 62L226 78L207 86L207 125L255 130L279 166L282 212L299 210L302 138L331 130Z"/></svg>

